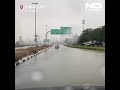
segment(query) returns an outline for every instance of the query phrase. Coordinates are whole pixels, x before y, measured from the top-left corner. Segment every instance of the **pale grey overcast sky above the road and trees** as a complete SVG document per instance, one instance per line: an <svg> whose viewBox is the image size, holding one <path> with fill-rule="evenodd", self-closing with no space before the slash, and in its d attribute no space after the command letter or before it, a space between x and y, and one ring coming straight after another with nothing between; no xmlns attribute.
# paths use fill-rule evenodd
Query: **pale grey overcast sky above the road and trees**
<svg viewBox="0 0 120 90"><path fill-rule="evenodd" d="M33 40L35 31L34 8L32 2L38 2L37 8L37 35L45 38L46 27L72 27L73 34L80 35L82 19L86 20L85 28L97 28L105 25L105 0L15 0L15 41L19 36L23 40ZM101 3L102 8L86 9L86 3ZM20 8L23 5L23 8Z"/></svg>

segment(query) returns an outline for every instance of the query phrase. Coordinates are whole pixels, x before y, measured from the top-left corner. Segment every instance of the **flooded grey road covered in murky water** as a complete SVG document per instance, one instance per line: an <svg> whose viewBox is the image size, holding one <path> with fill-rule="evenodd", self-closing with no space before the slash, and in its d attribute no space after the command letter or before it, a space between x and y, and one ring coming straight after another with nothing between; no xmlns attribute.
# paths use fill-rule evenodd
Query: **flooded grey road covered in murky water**
<svg viewBox="0 0 120 90"><path fill-rule="evenodd" d="M15 88L104 86L105 53L54 46L15 67Z"/></svg>

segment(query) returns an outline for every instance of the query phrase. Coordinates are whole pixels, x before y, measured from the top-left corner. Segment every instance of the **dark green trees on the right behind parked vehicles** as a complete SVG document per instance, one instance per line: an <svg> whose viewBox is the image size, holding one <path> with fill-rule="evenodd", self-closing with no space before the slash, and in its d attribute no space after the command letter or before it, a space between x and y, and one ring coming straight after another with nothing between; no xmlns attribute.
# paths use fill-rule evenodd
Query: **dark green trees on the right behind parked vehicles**
<svg viewBox="0 0 120 90"><path fill-rule="evenodd" d="M83 30L79 37L78 44L88 41L98 41L99 43L105 42L105 25L96 29L87 28Z"/></svg>

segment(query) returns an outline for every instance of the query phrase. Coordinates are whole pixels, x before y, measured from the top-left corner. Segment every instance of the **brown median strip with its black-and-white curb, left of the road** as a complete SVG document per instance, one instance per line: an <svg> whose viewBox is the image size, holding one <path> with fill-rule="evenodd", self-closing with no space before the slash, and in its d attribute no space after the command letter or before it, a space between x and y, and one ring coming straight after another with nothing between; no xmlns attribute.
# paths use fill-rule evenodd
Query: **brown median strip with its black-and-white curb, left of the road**
<svg viewBox="0 0 120 90"><path fill-rule="evenodd" d="M26 49L17 49L15 51L15 66L19 65L22 62L25 62L26 60L29 60L33 56L40 54L48 47L50 47L50 45L30 47Z"/></svg>

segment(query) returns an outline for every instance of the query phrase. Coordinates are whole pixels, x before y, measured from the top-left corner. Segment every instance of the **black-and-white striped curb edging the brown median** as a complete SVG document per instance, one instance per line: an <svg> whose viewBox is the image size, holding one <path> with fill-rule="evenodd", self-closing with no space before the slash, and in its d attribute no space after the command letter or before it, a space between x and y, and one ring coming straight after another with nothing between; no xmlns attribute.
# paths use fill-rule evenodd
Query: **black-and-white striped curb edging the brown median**
<svg viewBox="0 0 120 90"><path fill-rule="evenodd" d="M49 48L49 47L48 47L48 48ZM40 50L40 51L38 51L37 53L35 53L35 54L33 54L33 55L29 55L29 56L23 57L21 60L19 60L19 61L17 61L17 62L15 63L15 67L18 66L18 65L20 65L20 64L22 64L23 62L25 62L25 61L33 58L33 57L39 55L40 53L44 52L44 51L45 51L46 49L48 49L48 48L45 48L45 49L43 49L43 50Z"/></svg>

